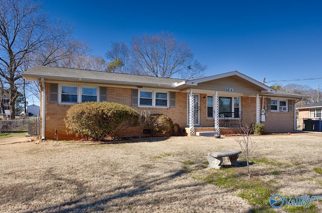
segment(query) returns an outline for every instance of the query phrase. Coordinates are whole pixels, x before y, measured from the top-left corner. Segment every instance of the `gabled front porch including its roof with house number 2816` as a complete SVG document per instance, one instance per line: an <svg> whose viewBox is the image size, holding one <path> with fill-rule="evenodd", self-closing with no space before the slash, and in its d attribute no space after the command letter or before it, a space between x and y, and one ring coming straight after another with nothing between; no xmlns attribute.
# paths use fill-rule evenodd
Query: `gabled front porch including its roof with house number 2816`
<svg viewBox="0 0 322 213"><path fill-rule="evenodd" d="M237 134L244 123L265 122L264 96L276 92L237 71L190 80L186 86L181 92L188 95L188 135Z"/></svg>

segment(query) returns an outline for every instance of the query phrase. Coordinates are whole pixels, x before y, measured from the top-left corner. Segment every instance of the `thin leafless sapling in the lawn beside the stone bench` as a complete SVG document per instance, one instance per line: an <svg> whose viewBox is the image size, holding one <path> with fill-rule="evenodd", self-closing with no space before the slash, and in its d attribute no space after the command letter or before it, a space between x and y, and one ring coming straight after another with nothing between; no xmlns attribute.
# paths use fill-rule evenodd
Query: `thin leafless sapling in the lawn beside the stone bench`
<svg viewBox="0 0 322 213"><path fill-rule="evenodd" d="M243 123L239 127L240 137L236 138L235 141L239 144L242 153L244 154L247 162L247 174L251 177L250 173L250 154L253 152L255 148L255 143L252 141L251 134L254 132L254 125L249 123Z"/></svg>

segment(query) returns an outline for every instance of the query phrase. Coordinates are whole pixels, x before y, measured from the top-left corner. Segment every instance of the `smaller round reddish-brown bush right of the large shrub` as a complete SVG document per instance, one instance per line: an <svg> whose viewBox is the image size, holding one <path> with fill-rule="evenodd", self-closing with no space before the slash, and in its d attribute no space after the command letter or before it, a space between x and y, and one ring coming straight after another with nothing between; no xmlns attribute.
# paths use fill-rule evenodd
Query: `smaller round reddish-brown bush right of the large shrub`
<svg viewBox="0 0 322 213"><path fill-rule="evenodd" d="M173 121L167 115L152 114L147 121L147 125L151 130L152 136L157 133L171 135Z"/></svg>

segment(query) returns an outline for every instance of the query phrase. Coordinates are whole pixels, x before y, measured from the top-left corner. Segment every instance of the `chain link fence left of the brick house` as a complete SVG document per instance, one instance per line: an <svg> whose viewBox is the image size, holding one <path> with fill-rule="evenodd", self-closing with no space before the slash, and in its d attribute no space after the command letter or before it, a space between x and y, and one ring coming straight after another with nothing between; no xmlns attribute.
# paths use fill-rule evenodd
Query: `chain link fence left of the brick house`
<svg viewBox="0 0 322 213"><path fill-rule="evenodd" d="M0 119L0 145L34 141L39 138L39 117Z"/></svg>

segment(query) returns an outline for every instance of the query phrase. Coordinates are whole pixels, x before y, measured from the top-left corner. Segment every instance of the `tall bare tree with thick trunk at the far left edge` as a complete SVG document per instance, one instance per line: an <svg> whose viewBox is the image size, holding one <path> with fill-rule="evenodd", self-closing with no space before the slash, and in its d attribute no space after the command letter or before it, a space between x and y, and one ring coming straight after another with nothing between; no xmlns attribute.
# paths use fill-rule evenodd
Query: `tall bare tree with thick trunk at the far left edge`
<svg viewBox="0 0 322 213"><path fill-rule="evenodd" d="M18 97L16 81L27 54L37 50L46 38L46 17L39 5L28 1L0 0L0 76L9 87L9 104L15 118Z"/></svg>

